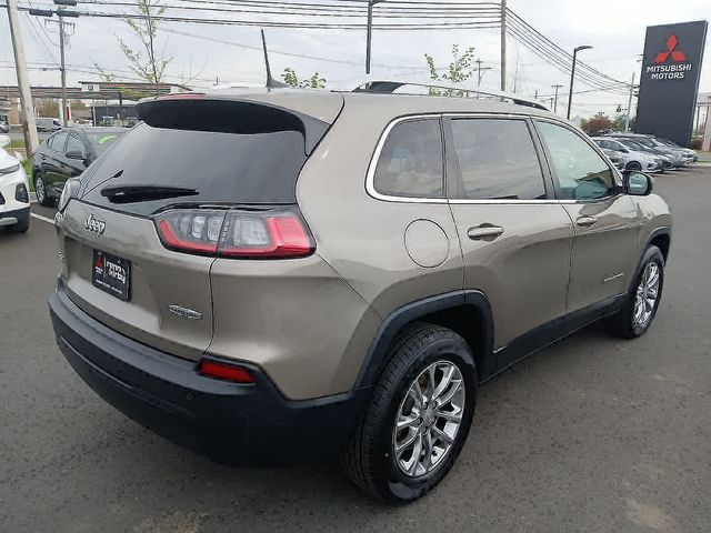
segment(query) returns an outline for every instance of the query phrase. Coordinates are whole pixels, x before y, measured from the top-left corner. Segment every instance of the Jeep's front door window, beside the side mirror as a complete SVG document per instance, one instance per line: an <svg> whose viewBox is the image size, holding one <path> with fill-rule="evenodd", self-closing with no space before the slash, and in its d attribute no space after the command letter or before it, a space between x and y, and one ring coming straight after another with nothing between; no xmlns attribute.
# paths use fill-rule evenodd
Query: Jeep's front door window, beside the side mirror
<svg viewBox="0 0 711 533"><path fill-rule="evenodd" d="M563 200L595 200L617 194L614 173L581 137L568 128L538 122Z"/></svg>

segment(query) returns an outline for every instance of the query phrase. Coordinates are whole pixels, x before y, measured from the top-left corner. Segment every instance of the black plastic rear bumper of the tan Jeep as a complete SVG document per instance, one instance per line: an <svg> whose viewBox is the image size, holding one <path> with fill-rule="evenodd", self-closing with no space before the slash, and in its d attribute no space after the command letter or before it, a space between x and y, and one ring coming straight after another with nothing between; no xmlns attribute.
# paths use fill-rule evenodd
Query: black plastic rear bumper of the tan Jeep
<svg viewBox="0 0 711 533"><path fill-rule="evenodd" d="M101 398L156 433L219 461L294 462L336 455L368 390L284 399L259 368L256 383L206 378L196 363L140 344L96 321L61 283L49 299L57 343Z"/></svg>

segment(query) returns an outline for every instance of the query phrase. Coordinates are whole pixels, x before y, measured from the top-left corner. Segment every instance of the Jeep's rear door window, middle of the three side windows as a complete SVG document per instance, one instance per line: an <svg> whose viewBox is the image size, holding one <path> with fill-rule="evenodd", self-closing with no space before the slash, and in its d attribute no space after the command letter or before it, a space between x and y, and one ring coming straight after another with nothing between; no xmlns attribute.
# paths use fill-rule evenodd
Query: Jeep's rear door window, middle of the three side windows
<svg viewBox="0 0 711 533"><path fill-rule="evenodd" d="M537 200L545 198L543 173L522 120L452 119L457 183L450 198Z"/></svg>

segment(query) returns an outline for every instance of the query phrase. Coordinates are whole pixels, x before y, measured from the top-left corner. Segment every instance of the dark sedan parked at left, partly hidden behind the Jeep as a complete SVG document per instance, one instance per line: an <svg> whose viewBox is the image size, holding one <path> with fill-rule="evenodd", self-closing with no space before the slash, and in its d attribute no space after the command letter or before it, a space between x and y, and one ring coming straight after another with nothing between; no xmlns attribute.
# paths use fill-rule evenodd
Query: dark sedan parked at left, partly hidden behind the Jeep
<svg viewBox="0 0 711 533"><path fill-rule="evenodd" d="M53 205L70 178L81 174L123 128L64 128L49 135L32 157L32 182L40 205Z"/></svg>

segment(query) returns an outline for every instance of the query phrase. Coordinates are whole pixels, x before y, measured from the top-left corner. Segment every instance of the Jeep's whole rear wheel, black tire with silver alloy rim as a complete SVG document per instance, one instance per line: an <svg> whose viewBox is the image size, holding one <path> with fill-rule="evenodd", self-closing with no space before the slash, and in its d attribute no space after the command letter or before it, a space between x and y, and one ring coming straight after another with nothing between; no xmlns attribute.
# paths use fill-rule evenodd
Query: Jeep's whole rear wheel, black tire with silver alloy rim
<svg viewBox="0 0 711 533"><path fill-rule="evenodd" d="M388 358L341 464L369 495L404 503L434 489L459 456L474 414L477 369L460 335L427 323L404 329Z"/></svg>

